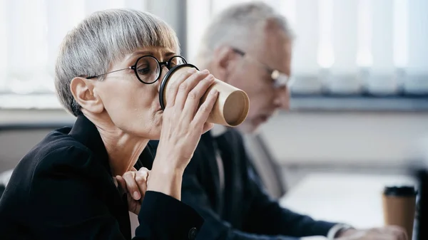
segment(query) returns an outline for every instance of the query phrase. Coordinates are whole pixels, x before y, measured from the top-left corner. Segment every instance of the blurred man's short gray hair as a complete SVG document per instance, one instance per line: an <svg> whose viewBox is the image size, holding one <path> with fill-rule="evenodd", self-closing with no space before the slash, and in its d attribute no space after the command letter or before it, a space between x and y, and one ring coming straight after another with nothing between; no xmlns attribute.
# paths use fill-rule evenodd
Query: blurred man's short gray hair
<svg viewBox="0 0 428 240"><path fill-rule="evenodd" d="M271 6L253 1L236 4L213 17L203 34L195 61L200 68L207 68L213 51L222 45L230 45L247 50L263 34L263 24L272 19L280 25L285 34L294 38L287 19Z"/></svg>

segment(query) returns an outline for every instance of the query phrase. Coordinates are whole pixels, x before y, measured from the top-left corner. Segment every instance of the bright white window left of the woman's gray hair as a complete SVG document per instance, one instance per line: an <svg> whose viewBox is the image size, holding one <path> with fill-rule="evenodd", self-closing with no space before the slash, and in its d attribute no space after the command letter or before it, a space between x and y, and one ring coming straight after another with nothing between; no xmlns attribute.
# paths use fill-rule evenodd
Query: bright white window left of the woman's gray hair
<svg viewBox="0 0 428 240"><path fill-rule="evenodd" d="M0 0L0 108L58 108L54 64L67 31L93 11L145 0Z"/></svg>

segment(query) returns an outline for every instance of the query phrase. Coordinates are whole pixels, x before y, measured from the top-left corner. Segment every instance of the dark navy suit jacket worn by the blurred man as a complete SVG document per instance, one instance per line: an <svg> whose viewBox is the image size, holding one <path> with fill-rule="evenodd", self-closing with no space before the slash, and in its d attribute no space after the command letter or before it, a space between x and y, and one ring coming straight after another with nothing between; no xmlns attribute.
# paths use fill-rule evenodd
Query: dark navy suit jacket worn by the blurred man
<svg viewBox="0 0 428 240"><path fill-rule="evenodd" d="M224 152L223 194L210 132L201 137L183 176L182 201L205 219L199 232L201 239L285 240L327 235L335 223L315 221L284 209L263 191L240 133L230 129L221 138L218 145Z"/></svg>

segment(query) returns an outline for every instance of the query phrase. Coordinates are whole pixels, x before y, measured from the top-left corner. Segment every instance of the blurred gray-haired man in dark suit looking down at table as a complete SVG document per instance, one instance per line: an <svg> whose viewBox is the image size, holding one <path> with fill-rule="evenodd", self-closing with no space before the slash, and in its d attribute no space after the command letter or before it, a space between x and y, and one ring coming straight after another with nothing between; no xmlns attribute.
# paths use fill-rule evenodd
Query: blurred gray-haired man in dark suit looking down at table
<svg viewBox="0 0 428 240"><path fill-rule="evenodd" d="M245 90L250 112L238 130L216 126L203 135L185 170L182 200L205 218L201 239L407 239L394 226L357 230L315 221L280 207L265 193L241 134L255 132L277 109L288 108L292 41L286 19L262 3L226 9L203 36L197 66Z"/></svg>

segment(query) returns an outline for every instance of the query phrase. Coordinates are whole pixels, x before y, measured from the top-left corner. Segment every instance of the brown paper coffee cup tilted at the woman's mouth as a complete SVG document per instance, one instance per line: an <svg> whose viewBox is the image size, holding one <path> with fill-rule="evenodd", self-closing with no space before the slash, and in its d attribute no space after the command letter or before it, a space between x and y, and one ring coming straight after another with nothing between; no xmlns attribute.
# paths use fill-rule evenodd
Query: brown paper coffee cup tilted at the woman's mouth
<svg viewBox="0 0 428 240"><path fill-rule="evenodd" d="M196 67L188 63L178 65L171 68L170 71L165 74L165 77L163 77L161 88L159 89L159 102L163 110L165 109L166 100L168 99L170 83L178 80L181 73L187 72L190 68ZM196 69L198 70L198 68ZM205 101L211 89L218 90L218 98L215 101L207 122L230 127L240 125L245 118L247 118L250 108L250 100L248 99L247 93L215 78L214 83L208 88L203 98L201 98L200 104Z"/></svg>

